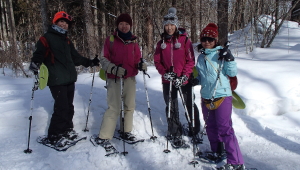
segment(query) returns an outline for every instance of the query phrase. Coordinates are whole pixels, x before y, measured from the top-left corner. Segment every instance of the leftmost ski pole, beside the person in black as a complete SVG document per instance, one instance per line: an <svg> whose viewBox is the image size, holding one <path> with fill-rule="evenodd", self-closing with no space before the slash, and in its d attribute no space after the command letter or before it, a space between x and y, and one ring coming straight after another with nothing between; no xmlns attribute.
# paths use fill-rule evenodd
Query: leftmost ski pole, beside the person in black
<svg viewBox="0 0 300 170"><path fill-rule="evenodd" d="M31 134L31 122L32 122L32 111L33 111L33 99L34 99L34 91L38 90L39 87L39 79L38 74L34 76L35 79L33 79L33 87L32 87L32 93L31 93L31 102L30 102L30 116L29 116L29 130L28 130L28 144L27 149L24 150L24 153L31 153L32 150L29 149L30 144L30 134Z"/></svg>

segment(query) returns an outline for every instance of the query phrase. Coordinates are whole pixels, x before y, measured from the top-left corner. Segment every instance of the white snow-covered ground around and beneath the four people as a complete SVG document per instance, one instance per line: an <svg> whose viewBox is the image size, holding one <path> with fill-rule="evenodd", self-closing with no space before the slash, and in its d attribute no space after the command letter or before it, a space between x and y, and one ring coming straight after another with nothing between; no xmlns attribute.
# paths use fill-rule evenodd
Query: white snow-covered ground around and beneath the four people
<svg viewBox="0 0 300 170"><path fill-rule="evenodd" d="M236 136L245 159L246 167L259 170L296 170L300 160L300 29L298 23L286 22L271 48L255 48L246 53L243 38L237 31L230 36L230 47L238 63L239 85L236 92L247 107L233 109L232 119ZM1 68L2 69L2 68ZM128 155L105 157L101 147L94 147L89 140L81 141L66 152L57 152L35 141L47 134L53 109L49 88L34 93L34 109L30 138L31 154L27 149L32 78L15 78L11 70L0 75L0 169L128 169L128 170L210 170L216 165L199 162L194 168L192 149L170 148L166 154L167 123L162 96L160 75L154 66L148 67L151 78L146 78L155 142L149 121L144 81L137 76L136 111L133 133L145 138L144 143L126 145ZM102 116L107 108L105 82L95 77L92 103L88 121L89 132L83 132L89 105L93 74L80 74L75 92L75 130L88 138L98 134ZM200 108L200 86L195 87L196 103ZM201 109L200 109L201 110ZM186 123L184 109L180 104L181 120ZM203 117L201 114L202 126ZM119 127L117 127L119 128ZM189 144L190 139L184 137ZM111 141L123 151L123 143ZM209 150L207 137L199 145ZM223 162L225 163L225 162Z"/></svg>

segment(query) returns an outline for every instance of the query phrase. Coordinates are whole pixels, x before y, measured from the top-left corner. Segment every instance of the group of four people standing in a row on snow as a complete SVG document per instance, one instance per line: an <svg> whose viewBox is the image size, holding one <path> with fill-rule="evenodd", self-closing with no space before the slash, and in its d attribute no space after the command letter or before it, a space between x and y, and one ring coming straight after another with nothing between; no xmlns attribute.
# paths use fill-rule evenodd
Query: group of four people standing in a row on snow
<svg viewBox="0 0 300 170"><path fill-rule="evenodd" d="M106 71L108 108L103 115L99 136L95 142L101 146L110 144L121 109L124 111L124 121L120 126L123 127L119 131L120 136L125 140L136 140L131 133L136 97L135 76L139 70L146 72L147 65L141 60L137 37L131 32L133 23L130 15L124 13L117 17L113 36L106 38L101 56L93 60L81 56L67 38L72 23L72 17L66 12L56 13L52 25L44 34L52 54L45 57L47 47L39 40L30 64L30 69L35 74L42 63L49 70L48 86L54 98L54 112L47 137L49 142L59 146L63 145L64 139L78 136L72 122L77 80L75 66L93 67L100 64ZM227 158L227 164L221 169L245 169L231 120L232 93L228 76L237 74L237 66L230 50L218 43L217 25L210 23L201 31L197 62L186 30L179 27L175 8L170 8L163 17L162 26L164 32L156 45L154 63L162 79L168 122L167 139L178 148L185 144L179 120L178 92L183 96L188 111L188 135L199 137L200 115L193 102L193 86L201 85L201 108L211 146L211 152L205 153L205 157L211 160ZM194 67L197 70L196 76L193 74ZM192 117L194 126L190 122ZM220 149L222 147L225 152Z"/></svg>

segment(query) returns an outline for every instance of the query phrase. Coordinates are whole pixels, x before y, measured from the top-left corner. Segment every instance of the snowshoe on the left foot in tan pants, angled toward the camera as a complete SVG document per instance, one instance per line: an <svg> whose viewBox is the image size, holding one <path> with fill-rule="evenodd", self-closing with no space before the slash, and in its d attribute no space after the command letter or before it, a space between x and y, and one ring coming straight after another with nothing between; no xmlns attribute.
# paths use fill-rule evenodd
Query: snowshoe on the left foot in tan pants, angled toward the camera
<svg viewBox="0 0 300 170"><path fill-rule="evenodd" d="M108 139L101 139L96 134L91 136L90 141L94 146L102 146L106 151L105 156L112 156L119 153L119 151L109 142Z"/></svg>

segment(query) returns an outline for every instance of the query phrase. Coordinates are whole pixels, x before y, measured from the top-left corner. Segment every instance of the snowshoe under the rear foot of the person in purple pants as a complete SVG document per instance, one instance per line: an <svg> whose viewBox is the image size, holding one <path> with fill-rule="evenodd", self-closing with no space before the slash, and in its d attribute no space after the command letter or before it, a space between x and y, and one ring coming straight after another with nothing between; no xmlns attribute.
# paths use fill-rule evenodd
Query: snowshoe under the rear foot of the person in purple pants
<svg viewBox="0 0 300 170"><path fill-rule="evenodd" d="M221 154L216 152L198 152L196 153L196 156L200 158L201 161L205 163L213 163L218 164L226 159L226 153L222 152Z"/></svg>

